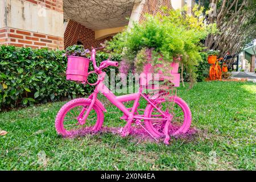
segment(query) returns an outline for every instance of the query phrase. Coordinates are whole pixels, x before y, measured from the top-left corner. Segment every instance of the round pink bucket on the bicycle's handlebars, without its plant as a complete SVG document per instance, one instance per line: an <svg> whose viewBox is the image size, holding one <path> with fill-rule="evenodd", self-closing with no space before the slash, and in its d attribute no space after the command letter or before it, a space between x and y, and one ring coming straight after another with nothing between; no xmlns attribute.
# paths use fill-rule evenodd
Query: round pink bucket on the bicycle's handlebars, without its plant
<svg viewBox="0 0 256 182"><path fill-rule="evenodd" d="M68 56L67 80L86 82L90 60L85 57Z"/></svg>

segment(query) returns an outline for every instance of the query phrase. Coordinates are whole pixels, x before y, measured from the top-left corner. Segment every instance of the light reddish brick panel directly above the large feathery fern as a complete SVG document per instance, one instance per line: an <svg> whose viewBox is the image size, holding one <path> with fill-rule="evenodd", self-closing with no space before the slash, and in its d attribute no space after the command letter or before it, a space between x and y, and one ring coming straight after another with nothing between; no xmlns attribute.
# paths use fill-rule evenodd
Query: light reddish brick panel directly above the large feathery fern
<svg viewBox="0 0 256 182"><path fill-rule="evenodd" d="M146 0L142 9L141 17L139 18L139 23L146 20L146 14L156 15L157 13L161 13L164 15L161 10L161 7L163 6L166 6L168 10L171 10L171 0Z"/></svg>

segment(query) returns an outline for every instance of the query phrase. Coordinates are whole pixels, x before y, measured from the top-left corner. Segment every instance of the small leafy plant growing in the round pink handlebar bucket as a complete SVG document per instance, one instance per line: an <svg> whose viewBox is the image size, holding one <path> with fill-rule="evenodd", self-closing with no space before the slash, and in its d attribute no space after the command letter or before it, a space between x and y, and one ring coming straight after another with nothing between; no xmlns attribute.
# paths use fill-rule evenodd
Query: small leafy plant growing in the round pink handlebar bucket
<svg viewBox="0 0 256 182"><path fill-rule="evenodd" d="M85 49L82 45L69 46L63 56L79 56L79 57L89 57L89 49Z"/></svg>

